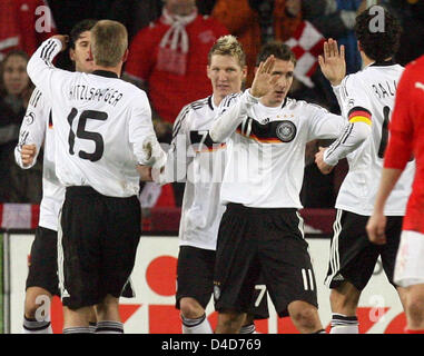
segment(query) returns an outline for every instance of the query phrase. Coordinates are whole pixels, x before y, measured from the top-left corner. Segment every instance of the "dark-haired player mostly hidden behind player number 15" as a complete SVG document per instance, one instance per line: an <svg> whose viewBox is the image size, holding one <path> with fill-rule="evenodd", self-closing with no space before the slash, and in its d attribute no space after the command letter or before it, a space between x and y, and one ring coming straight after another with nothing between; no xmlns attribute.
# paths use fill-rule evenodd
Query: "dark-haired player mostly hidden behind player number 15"
<svg viewBox="0 0 424 356"><path fill-rule="evenodd" d="M70 58L79 72L91 72L92 59L89 56L90 30L95 20L78 22L70 32ZM51 334L50 317L40 318L37 310L50 312L53 295L59 296L57 230L59 210L65 198L65 187L55 174L55 137L51 119L51 105L39 89L36 89L29 101L26 117L22 121L19 142L14 149L17 164L29 169L33 167L43 146L42 200L40 204L40 220L36 238L31 247L31 259L26 284L24 300L24 334ZM48 303L47 303L48 300ZM41 306L43 303L47 305ZM66 318L67 308L63 308ZM95 328L95 315L90 317L91 330Z"/></svg>

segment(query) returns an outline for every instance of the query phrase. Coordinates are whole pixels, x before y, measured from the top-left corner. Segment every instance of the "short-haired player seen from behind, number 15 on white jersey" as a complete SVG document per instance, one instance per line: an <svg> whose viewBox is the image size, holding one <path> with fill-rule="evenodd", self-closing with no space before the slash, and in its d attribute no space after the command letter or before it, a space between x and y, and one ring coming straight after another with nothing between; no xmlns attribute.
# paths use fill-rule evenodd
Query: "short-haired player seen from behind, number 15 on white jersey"
<svg viewBox="0 0 424 356"><path fill-rule="evenodd" d="M58 231L63 333L97 327L124 333L118 301L140 238L137 165L165 164L146 93L119 79L128 56L126 28L102 20L91 29L92 75L53 67L67 37L45 41L28 63L52 103L56 174L66 187Z"/></svg>

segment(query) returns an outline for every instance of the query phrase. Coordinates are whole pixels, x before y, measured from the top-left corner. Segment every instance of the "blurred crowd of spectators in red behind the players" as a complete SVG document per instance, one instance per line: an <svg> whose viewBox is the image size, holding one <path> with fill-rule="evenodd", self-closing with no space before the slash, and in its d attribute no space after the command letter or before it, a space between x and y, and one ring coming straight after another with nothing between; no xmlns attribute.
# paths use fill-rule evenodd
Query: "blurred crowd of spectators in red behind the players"
<svg viewBox="0 0 424 356"><path fill-rule="evenodd" d="M405 66L423 55L424 1L373 2L392 10L403 26L396 61ZM39 204L42 197L42 152L36 167L22 170L14 164L13 149L33 90L27 62L50 36L67 34L83 19L122 22L130 40L122 78L147 91L159 141L169 144L172 122L181 108L211 93L206 76L207 53L215 40L227 33L236 36L244 46L249 70L246 88L252 83L260 46L280 40L292 47L298 61L289 97L339 113L317 57L325 39L333 38L346 48L347 73L361 70L353 28L357 12L369 3L366 0L1 0L0 202ZM58 57L56 65L73 70L67 52ZM305 208L333 208L346 174L345 160L327 176L317 169L314 162L317 147L328 144L313 141L307 147L302 190ZM181 205L184 184L161 189L140 185L141 200L149 207Z"/></svg>

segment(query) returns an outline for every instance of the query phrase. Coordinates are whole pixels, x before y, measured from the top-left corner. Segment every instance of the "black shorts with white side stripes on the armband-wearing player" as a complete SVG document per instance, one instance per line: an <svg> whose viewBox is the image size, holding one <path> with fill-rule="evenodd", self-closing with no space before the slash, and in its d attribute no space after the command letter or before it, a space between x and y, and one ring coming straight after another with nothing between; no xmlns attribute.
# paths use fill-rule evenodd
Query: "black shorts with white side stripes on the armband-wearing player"
<svg viewBox="0 0 424 356"><path fill-rule="evenodd" d="M363 290L373 275L378 256L382 258L388 281L393 284L403 217L387 217L385 245L375 245L369 241L365 229L368 219L369 216L337 210L325 278L325 285L329 288L336 288L347 280L358 290Z"/></svg>

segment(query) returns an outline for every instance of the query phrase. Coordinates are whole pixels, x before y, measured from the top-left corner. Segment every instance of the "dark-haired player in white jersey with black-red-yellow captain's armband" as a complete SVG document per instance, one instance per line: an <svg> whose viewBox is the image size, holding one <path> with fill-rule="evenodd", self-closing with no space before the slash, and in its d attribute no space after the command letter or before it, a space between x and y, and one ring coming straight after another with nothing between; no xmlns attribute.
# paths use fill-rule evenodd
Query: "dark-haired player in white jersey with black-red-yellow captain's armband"
<svg viewBox="0 0 424 356"><path fill-rule="evenodd" d="M341 48L338 52L337 42L333 40L325 43L324 59L319 58L323 73L331 81L343 116L349 122L333 145L321 148L316 155L316 164L324 174L344 157L349 165L336 200L337 215L325 278L332 289L332 334L358 334L356 308L379 256L387 279L394 285L402 219L414 176L411 162L386 205L390 240L384 246L371 244L365 227L373 211L387 145L387 126L404 69L393 60L401 27L393 14L379 9L384 11L384 31L373 29L375 13L371 9L356 18L355 33L364 69L345 77L344 51ZM404 289L395 287L404 303Z"/></svg>

